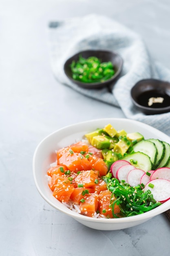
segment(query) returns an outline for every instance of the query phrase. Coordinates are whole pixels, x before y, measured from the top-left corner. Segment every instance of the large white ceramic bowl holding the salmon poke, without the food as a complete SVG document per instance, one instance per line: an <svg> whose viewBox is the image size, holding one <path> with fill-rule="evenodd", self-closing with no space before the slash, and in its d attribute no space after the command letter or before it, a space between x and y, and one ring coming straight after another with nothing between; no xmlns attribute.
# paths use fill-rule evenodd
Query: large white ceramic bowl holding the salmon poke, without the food
<svg viewBox="0 0 170 256"><path fill-rule="evenodd" d="M106 118L85 121L53 132L40 142L33 156L33 176L35 185L42 198L58 211L71 216L87 227L99 230L117 230L133 227L170 209L170 200L168 200L159 207L137 216L116 219L91 218L71 211L54 198L45 175L49 164L56 160L55 150L73 144L75 141L81 140L87 132L93 131L96 128L103 128L109 123L117 130L124 129L126 132L140 132L144 135L145 139L156 138L170 144L170 137L151 126L130 119Z"/></svg>

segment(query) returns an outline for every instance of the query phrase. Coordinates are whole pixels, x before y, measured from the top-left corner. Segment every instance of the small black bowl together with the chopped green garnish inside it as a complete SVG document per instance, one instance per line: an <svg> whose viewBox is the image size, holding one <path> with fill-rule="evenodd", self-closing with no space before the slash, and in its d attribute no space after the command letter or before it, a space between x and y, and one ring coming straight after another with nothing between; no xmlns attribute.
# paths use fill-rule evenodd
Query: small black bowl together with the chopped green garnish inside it
<svg viewBox="0 0 170 256"><path fill-rule="evenodd" d="M95 89L112 83L120 74L123 60L119 54L106 50L78 52L64 64L68 79L80 87Z"/></svg>

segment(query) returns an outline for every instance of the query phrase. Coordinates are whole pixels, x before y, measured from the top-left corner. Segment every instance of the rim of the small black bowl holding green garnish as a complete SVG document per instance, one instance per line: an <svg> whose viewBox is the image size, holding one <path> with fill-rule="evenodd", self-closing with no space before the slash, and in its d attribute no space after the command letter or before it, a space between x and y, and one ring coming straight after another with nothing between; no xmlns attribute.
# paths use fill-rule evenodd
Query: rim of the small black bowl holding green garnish
<svg viewBox="0 0 170 256"><path fill-rule="evenodd" d="M120 59L120 66L118 67L118 70L117 72L108 80L104 81L104 82L94 82L94 83L84 83L84 82L81 82L81 81L77 81L75 79L73 79L71 76L69 76L66 72L66 67L69 63L69 61L71 61L71 59L76 56L76 55L79 55L79 54L82 54L82 53L86 53L86 52L105 52L105 53L108 53L108 54L111 54L115 57L118 57ZM86 49L86 50L82 50L80 52L76 52L75 54L73 54L72 56L70 56L65 62L64 62L64 66L63 66L63 69L64 69L64 73L65 75L68 77L68 79L70 79L73 83L76 83L77 85L79 86L82 86L82 87L86 87L86 88L91 88L92 86L94 87L98 87L98 86L101 86L103 87L104 85L108 84L108 83L111 83L112 81L114 81L118 76L119 74L121 73L121 70L122 70L122 67L123 67L123 58L120 56L120 54L118 54L117 52L113 52L113 51L109 51L109 50L105 50L105 49Z"/></svg>

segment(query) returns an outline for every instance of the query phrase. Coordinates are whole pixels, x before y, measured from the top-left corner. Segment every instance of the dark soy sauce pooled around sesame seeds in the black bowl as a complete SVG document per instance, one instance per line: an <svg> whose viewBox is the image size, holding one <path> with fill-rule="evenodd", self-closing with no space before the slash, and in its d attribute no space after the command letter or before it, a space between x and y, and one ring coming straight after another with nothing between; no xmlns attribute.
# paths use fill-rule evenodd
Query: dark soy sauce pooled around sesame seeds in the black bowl
<svg viewBox="0 0 170 256"><path fill-rule="evenodd" d="M149 102L149 99L152 97L153 98L161 97L163 98L163 101L162 102L160 101L161 103L152 103L152 105L149 106L148 102ZM144 107L165 108L170 106L170 96L163 91L150 90L150 91L141 93L137 98L137 102Z"/></svg>

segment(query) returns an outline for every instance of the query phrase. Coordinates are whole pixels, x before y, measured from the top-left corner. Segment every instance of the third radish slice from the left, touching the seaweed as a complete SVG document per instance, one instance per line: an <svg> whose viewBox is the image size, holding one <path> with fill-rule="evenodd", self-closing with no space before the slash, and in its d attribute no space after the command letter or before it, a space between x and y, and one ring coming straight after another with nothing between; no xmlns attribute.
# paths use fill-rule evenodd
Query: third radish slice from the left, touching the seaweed
<svg viewBox="0 0 170 256"><path fill-rule="evenodd" d="M127 182L130 186L137 186L140 184L141 177L145 174L145 171L141 169L132 169L127 176Z"/></svg>

